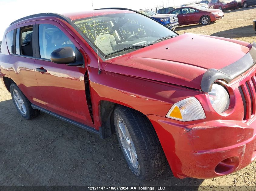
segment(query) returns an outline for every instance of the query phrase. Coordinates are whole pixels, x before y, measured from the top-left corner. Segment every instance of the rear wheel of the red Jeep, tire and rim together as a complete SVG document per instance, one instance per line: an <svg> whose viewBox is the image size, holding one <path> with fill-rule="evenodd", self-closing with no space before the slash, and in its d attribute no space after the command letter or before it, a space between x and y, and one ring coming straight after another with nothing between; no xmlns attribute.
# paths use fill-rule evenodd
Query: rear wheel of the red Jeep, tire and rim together
<svg viewBox="0 0 256 191"><path fill-rule="evenodd" d="M39 115L40 111L34 110L31 107L30 101L25 97L16 84L12 83L10 85L10 92L12 101L22 117L25 119L33 119Z"/></svg>

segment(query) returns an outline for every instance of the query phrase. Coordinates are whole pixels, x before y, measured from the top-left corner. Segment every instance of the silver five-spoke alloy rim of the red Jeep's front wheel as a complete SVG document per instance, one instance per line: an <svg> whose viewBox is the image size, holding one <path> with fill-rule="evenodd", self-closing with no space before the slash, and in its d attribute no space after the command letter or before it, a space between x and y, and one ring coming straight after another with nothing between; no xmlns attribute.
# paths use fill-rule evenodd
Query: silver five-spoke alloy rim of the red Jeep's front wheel
<svg viewBox="0 0 256 191"><path fill-rule="evenodd" d="M118 124L118 135L120 137L125 154L128 157L131 165L135 169L137 169L139 166L138 156L135 150L134 143L131 139L131 135L125 125L125 122L122 119L118 118L117 124Z"/></svg>

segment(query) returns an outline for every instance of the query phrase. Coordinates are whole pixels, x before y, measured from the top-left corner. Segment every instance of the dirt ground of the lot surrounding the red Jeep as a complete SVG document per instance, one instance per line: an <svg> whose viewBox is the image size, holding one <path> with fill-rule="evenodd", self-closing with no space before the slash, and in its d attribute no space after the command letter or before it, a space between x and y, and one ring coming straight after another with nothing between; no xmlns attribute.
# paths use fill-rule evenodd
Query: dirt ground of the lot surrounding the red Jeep
<svg viewBox="0 0 256 191"><path fill-rule="evenodd" d="M256 7L227 11L216 23L185 26L177 31L252 43L256 41L253 19ZM128 170L116 136L101 140L44 113L27 121L18 114L10 94L0 85L0 185L194 185L218 190L221 188L216 186L256 186L255 171L253 162L220 178L180 180L167 168L161 177L141 181Z"/></svg>

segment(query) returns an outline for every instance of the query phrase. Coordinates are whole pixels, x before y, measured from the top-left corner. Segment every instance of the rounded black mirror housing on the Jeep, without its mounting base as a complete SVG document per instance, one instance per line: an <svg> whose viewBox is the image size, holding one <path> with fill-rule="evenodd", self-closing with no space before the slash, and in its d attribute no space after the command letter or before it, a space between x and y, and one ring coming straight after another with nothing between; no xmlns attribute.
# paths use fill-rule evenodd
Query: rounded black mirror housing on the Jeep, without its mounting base
<svg viewBox="0 0 256 191"><path fill-rule="evenodd" d="M51 53L51 60L56 64L70 64L76 62L76 55L69 46L58 48Z"/></svg>

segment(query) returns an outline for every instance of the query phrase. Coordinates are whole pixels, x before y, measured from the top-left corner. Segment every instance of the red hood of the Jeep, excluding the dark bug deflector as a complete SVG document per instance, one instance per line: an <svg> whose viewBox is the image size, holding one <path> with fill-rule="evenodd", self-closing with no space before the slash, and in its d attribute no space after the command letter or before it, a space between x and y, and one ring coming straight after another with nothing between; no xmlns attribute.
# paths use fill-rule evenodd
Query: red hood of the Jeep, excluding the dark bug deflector
<svg viewBox="0 0 256 191"><path fill-rule="evenodd" d="M202 77L208 69L224 68L249 50L230 41L185 33L106 60L103 67L108 72L200 90Z"/></svg>

